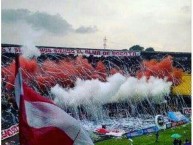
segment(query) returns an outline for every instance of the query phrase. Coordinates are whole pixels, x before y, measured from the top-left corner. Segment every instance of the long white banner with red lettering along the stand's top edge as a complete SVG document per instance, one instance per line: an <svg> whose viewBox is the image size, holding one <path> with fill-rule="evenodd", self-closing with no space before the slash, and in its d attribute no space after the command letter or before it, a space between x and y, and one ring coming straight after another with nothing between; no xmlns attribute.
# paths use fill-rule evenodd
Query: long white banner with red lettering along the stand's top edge
<svg viewBox="0 0 193 145"><path fill-rule="evenodd" d="M2 47L2 53L22 53L20 47ZM39 48L41 54L73 54L93 56L140 56L140 52L123 50L99 50L99 49L78 49L78 48Z"/></svg>

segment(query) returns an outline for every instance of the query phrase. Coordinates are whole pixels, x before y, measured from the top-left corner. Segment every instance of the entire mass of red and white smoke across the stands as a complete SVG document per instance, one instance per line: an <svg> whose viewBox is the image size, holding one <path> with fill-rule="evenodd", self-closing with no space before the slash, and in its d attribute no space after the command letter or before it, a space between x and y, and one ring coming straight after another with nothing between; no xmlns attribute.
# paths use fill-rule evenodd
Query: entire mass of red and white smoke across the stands
<svg viewBox="0 0 193 145"><path fill-rule="evenodd" d="M164 95L170 92L170 81L180 80L181 76L181 71L172 66L169 58L164 60L165 63L163 63L164 61L162 63L156 61L146 63L145 70L138 73L138 79L134 77L126 78L121 74L118 75L119 71L114 68L109 70L109 75L112 76L108 77L106 67L101 61L97 63L96 67L93 67L88 63L87 59L83 59L80 56L76 59L65 58L58 62L47 59L39 64L36 60L20 59L24 81L28 83L33 81L38 86L38 89L41 90L49 90L59 84L54 87L56 93L53 94L59 96L59 98L55 99L58 99L58 101L62 99L70 104L83 101L101 104L129 99L137 101L143 100L147 96L152 100L153 97L162 99ZM154 63L167 64L159 65L167 78L155 75L160 74L159 71L156 71L157 69L160 70L160 68L157 65L153 65ZM156 68L153 69L154 66ZM149 71L148 68L154 71ZM147 74L145 73L147 71L151 75L140 76L140 74ZM2 69L2 75L6 75L7 82L9 82L7 83L7 88L13 88L10 84L14 82L14 72L14 62ZM57 91L57 88L60 87L65 88L63 89L65 92L61 92L62 89ZM61 93L57 94L58 92ZM62 93L65 96L62 96ZM65 99L66 97L70 99Z"/></svg>

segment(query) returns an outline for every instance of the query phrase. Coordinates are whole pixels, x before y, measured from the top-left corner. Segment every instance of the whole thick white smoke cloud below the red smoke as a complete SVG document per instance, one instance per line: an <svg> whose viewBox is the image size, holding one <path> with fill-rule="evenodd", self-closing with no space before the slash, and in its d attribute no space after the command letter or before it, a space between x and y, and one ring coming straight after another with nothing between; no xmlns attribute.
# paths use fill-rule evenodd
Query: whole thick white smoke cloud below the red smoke
<svg viewBox="0 0 193 145"><path fill-rule="evenodd" d="M170 93L171 85L171 82L164 79L126 78L117 73L107 78L107 82L78 79L72 89L56 85L51 88L51 93L55 96L55 103L59 105L105 104L129 100L138 102L144 99L159 103Z"/></svg>

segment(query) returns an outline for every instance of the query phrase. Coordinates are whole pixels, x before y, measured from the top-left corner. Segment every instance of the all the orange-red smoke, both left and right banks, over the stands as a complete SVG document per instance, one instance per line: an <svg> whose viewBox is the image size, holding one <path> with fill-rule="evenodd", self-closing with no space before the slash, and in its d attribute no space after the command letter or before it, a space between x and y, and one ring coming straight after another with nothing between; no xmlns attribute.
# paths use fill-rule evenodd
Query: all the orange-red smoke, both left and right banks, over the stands
<svg viewBox="0 0 193 145"><path fill-rule="evenodd" d="M168 56L162 61L143 61L143 68L137 72L137 77L155 76L159 78L168 77L175 85L181 82L182 70L172 66L172 57ZM43 63L37 63L35 59L28 60L20 57L23 80L35 83L41 89L47 89L59 84L63 87L73 87L77 78L83 80L99 79L106 81L109 75L115 73L124 74L121 70L111 68L108 70L102 61L93 67L87 59L80 56L76 59L65 58L52 61L47 59ZM15 61L9 66L2 68L2 77L6 78L6 88L13 89L15 79Z"/></svg>

